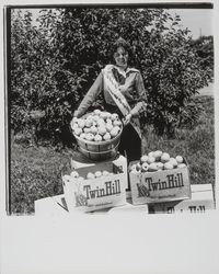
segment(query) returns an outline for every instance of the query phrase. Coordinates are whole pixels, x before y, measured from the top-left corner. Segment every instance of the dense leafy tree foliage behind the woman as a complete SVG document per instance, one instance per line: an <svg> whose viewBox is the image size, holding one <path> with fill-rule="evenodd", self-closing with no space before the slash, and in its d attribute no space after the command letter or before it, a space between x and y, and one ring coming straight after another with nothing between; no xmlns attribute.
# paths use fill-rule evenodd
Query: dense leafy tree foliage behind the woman
<svg viewBox="0 0 219 274"><path fill-rule="evenodd" d="M55 141L69 139L72 114L112 61L111 46L119 36L131 45L130 65L140 69L148 92L141 121L160 134L180 126L186 105L212 78L180 16L162 9L77 7L42 10L38 27L31 21L28 11L24 19L12 16L12 126L22 127L18 112L44 111L41 133Z"/></svg>

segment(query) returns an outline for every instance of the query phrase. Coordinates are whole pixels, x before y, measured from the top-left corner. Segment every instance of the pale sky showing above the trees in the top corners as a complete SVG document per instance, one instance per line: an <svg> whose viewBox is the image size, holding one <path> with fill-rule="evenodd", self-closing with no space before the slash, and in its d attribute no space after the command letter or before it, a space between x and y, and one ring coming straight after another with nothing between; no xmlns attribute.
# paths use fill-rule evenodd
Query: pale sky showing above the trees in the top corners
<svg viewBox="0 0 219 274"><path fill-rule="evenodd" d="M34 19L38 16L39 9L32 9ZM193 38L201 35L212 35L212 9L170 9L171 14L181 16L181 24L191 30Z"/></svg>

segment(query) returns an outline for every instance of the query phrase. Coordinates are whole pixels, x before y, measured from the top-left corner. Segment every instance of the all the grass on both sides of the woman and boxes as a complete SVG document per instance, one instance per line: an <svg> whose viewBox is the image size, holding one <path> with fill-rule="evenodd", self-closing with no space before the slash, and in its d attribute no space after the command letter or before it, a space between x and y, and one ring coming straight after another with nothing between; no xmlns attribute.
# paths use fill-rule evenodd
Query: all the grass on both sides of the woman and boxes
<svg viewBox="0 0 219 274"><path fill-rule="evenodd" d="M176 138L166 139L147 127L143 151L160 149L171 156L182 155L189 164L192 184L215 185L214 99L198 96L196 100L204 106L204 112L193 129L177 129ZM35 199L61 194L61 168L72 153L72 149L57 151L54 147L11 144L12 214L33 214Z"/></svg>

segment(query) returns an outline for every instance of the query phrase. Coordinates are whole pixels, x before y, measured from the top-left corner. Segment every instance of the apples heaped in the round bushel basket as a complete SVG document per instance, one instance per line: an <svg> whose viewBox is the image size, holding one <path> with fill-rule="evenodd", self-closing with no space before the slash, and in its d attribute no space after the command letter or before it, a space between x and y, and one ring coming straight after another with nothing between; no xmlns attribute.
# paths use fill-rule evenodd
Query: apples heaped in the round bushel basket
<svg viewBox="0 0 219 274"><path fill-rule="evenodd" d="M115 138L122 130L118 114L95 110L88 116L73 117L71 121L73 134L89 141L106 141Z"/></svg>

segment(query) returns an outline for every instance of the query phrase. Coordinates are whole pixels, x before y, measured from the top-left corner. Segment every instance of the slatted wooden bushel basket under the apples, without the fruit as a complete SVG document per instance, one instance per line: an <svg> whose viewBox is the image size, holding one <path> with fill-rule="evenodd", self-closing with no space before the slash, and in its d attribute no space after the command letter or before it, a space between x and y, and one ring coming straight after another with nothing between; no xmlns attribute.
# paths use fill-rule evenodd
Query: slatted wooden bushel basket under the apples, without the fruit
<svg viewBox="0 0 219 274"><path fill-rule="evenodd" d="M80 138L79 136L74 134L73 136L77 139L79 151L82 155L84 155L87 158L93 161L104 161L117 155L122 133L123 133L123 127L119 134L115 138L107 140L107 141L103 141L103 140L90 141L90 140Z"/></svg>

